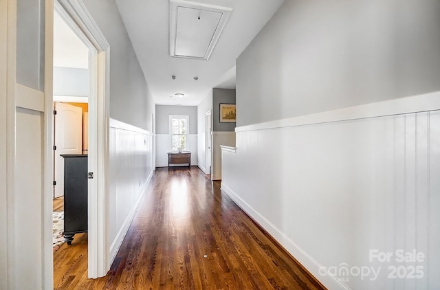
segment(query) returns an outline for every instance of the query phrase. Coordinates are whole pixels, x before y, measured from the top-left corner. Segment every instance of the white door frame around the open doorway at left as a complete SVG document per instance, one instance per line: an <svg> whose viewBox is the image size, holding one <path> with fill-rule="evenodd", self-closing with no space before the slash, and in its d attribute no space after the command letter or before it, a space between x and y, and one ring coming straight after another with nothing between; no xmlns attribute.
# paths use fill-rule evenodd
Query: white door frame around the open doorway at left
<svg viewBox="0 0 440 290"><path fill-rule="evenodd" d="M50 1L50 0L47 0ZM88 257L89 278L105 276L110 269L109 261L109 235L107 232L109 221L109 200L107 177L109 166L109 64L110 47L98 25L87 11L81 0L56 0L54 8L66 21L67 25L74 30L76 35L89 47L89 71L90 71L90 95L89 95L89 172L94 173L93 179L89 179L88 197ZM48 13L47 13L48 14ZM46 17L48 16L46 14ZM52 10L53 14L53 10ZM46 32L53 30L53 15L46 19ZM52 33L52 32L51 32ZM50 42L46 40L45 47L52 47L53 36ZM46 98L45 109L52 111L52 58L53 52L45 52L45 58L51 59L50 64L45 64L45 71L51 72L46 77L47 91L50 89L50 98ZM50 99L50 100L49 100ZM49 120L50 119L50 120ZM46 129L52 133L52 116L46 114ZM48 126L50 124L50 126ZM47 142L52 144L52 134L46 135ZM50 148L50 146L46 146ZM47 164L52 157L46 156ZM51 165L52 166L52 165ZM46 173L49 170L46 170ZM46 174L47 175L47 174ZM51 190L52 177L45 178L45 197L52 204ZM52 209L51 209L52 212ZM51 221L52 227L52 221ZM52 243L52 242L51 242ZM52 249L51 249L52 253ZM47 262L47 266L49 263ZM48 271L47 271L48 272ZM53 272L53 269L50 269ZM49 274L49 273L47 273ZM46 275L49 276L49 275ZM52 275L50 275L52 278Z"/></svg>

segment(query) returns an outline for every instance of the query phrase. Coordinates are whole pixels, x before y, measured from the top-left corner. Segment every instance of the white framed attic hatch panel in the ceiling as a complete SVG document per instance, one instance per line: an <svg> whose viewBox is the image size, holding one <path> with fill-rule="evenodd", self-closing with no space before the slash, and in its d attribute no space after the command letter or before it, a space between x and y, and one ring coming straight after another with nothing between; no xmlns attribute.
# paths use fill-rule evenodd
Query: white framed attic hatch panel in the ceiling
<svg viewBox="0 0 440 290"><path fill-rule="evenodd" d="M170 56L208 60L232 8L170 0Z"/></svg>

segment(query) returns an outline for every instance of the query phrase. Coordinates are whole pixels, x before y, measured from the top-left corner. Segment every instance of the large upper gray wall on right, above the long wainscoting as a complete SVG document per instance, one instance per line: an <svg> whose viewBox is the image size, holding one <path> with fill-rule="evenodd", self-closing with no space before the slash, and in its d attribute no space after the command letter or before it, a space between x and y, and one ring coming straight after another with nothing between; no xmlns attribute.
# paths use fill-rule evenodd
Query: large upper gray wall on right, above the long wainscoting
<svg viewBox="0 0 440 290"><path fill-rule="evenodd" d="M440 89L440 1L285 1L236 60L237 126Z"/></svg>

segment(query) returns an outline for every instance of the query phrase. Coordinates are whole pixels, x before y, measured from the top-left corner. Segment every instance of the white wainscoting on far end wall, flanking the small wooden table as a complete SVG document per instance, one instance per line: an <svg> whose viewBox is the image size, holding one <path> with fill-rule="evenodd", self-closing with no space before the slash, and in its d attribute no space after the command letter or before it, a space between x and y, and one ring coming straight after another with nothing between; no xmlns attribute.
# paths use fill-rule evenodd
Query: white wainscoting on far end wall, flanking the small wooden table
<svg viewBox="0 0 440 290"><path fill-rule="evenodd" d="M189 134L186 151L191 152L191 166L197 166L197 134ZM168 152L171 151L171 135L156 134L156 166L168 166Z"/></svg>

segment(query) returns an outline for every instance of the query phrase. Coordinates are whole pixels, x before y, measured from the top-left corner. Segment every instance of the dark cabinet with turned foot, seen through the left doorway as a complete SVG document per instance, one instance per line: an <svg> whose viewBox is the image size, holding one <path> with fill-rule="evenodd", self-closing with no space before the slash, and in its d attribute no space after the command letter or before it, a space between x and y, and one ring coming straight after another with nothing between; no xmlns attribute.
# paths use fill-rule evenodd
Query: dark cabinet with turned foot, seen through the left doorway
<svg viewBox="0 0 440 290"><path fill-rule="evenodd" d="M64 157L64 238L72 244L74 235L87 232L87 155Z"/></svg>

